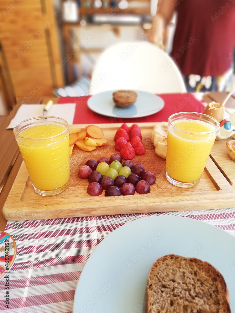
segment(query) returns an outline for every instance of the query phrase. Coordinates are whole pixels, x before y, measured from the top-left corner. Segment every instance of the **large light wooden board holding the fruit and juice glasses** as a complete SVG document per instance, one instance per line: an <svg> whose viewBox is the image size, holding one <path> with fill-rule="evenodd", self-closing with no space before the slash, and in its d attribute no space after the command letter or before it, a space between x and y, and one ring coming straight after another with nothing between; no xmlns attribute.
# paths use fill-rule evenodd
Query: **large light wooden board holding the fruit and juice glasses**
<svg viewBox="0 0 235 313"><path fill-rule="evenodd" d="M34 192L28 172L22 163L8 199L3 207L7 220L32 220L47 218L68 218L77 216L147 213L164 211L185 211L199 209L229 208L234 205L235 190L226 180L211 158L206 163L199 184L192 188L179 188L171 185L165 177L165 160L155 155L151 143L153 126L156 123L139 123L146 154L135 156L134 164L142 164L146 171L156 174L156 183L150 193L120 197L91 197L86 189L88 180L78 178L78 170L87 160L97 160L117 153L114 148L114 135L121 124L100 124L105 146L94 151L80 150L76 145L70 158L70 186L61 194L43 197ZM128 124L131 126L132 124ZM86 125L73 125L85 127Z"/></svg>

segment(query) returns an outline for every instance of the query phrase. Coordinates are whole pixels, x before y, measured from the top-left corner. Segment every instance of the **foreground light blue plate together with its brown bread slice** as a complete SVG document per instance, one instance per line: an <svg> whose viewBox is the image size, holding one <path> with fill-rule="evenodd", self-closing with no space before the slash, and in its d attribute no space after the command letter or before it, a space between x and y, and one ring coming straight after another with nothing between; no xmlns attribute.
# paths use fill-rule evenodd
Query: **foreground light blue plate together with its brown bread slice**
<svg viewBox="0 0 235 313"><path fill-rule="evenodd" d="M234 247L234 236L192 218L126 223L87 260L73 312L235 312Z"/></svg>

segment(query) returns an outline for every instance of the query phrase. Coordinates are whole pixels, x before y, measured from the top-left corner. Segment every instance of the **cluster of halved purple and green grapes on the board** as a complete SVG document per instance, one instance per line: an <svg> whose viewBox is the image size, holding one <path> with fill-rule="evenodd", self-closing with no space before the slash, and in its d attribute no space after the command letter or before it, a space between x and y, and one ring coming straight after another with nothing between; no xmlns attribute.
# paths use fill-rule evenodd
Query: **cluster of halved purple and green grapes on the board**
<svg viewBox="0 0 235 313"><path fill-rule="evenodd" d="M145 172L143 165L134 165L130 160L122 164L119 154L112 154L109 161L106 157L88 160L80 167L78 177L88 178L87 193L90 196L99 196L105 190L105 197L130 196L135 192L146 194L150 192L149 185L156 181L156 175Z"/></svg>

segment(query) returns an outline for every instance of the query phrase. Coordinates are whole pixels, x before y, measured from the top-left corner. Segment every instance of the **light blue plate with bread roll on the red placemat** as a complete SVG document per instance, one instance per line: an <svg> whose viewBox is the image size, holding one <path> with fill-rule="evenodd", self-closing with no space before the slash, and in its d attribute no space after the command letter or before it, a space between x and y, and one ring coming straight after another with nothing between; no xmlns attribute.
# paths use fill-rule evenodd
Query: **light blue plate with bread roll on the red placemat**
<svg viewBox="0 0 235 313"><path fill-rule="evenodd" d="M141 90L107 90L91 96L87 105L101 115L132 118L159 112L164 107L164 100Z"/></svg>

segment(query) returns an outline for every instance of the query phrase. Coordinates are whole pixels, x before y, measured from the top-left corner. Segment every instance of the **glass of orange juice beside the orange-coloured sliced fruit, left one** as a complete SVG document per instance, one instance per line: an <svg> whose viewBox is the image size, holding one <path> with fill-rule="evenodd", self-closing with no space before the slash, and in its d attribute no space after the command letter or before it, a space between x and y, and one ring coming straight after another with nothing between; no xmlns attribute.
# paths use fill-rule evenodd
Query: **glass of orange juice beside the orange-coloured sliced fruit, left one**
<svg viewBox="0 0 235 313"><path fill-rule="evenodd" d="M34 190L42 196L64 191L70 178L68 123L40 116L22 121L13 131Z"/></svg>

